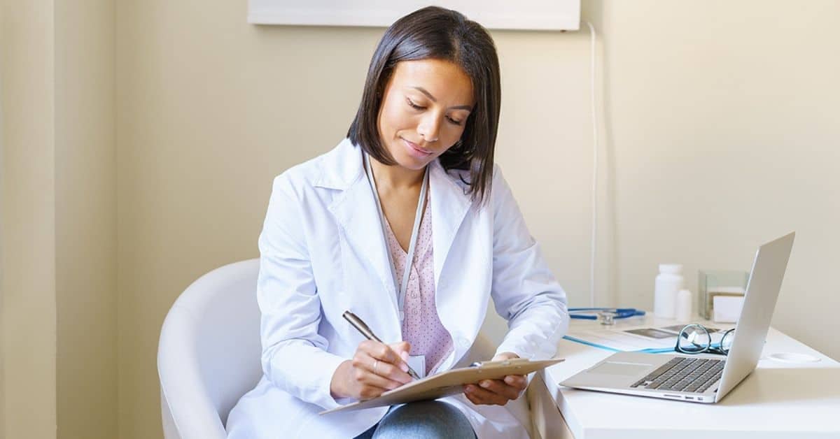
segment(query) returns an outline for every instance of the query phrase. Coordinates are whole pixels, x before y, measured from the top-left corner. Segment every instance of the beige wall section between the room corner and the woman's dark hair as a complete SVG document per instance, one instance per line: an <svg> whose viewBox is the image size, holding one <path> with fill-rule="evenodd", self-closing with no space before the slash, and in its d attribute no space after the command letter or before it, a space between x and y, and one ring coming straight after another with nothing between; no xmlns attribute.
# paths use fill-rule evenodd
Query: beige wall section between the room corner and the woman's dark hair
<svg viewBox="0 0 840 439"><path fill-rule="evenodd" d="M255 27L246 2L117 7L119 431L160 437L160 324L257 256L271 179L337 144L381 29Z"/></svg>

